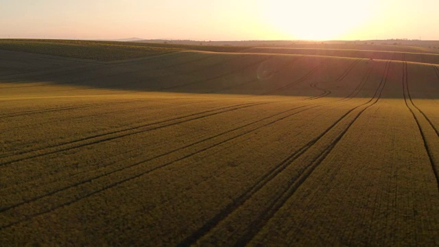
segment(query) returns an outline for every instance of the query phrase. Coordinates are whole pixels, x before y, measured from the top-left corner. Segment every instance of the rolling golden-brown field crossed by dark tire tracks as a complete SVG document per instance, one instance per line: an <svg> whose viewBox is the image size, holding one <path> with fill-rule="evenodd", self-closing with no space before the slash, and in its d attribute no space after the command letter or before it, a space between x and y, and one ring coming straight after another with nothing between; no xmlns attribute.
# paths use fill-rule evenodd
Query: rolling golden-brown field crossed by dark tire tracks
<svg viewBox="0 0 439 247"><path fill-rule="evenodd" d="M272 50L0 50L0 244L437 246L437 55Z"/></svg>

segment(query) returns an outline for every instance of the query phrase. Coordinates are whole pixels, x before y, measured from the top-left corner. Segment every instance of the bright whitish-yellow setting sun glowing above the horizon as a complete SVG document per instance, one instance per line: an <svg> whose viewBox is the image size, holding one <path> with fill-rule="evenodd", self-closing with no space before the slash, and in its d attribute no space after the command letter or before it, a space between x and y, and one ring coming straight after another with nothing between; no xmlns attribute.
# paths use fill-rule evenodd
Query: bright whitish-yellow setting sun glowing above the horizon
<svg viewBox="0 0 439 247"><path fill-rule="evenodd" d="M346 38L370 15L368 1L260 1L265 22L288 39Z"/></svg>

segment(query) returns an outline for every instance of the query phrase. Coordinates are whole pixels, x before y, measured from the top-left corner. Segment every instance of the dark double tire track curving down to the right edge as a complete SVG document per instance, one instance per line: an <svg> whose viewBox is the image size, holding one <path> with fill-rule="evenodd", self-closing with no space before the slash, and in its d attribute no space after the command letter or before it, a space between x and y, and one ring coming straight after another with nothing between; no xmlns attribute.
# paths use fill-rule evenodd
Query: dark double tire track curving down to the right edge
<svg viewBox="0 0 439 247"><path fill-rule="evenodd" d="M427 134L425 134L425 130L422 127L422 125L420 124L419 118L416 116L416 114L414 113L414 109L412 107L410 107L410 105L414 106L414 108L416 108L416 110L418 110L418 113L423 115L424 119L429 123L430 127L436 132L436 137L439 137L439 132L434 127L434 124L430 121L430 119L427 117L427 115L425 115L425 113L422 110L420 110L420 108L418 108L418 106L416 106L414 104L414 102L412 101L412 96L410 95L410 89L408 86L407 62L403 62L403 95L404 95L405 106L407 106L407 108L409 108L409 110L410 110L410 113L412 113L414 120L416 121L416 124L418 126L420 136L423 139L424 147L425 147L425 150L426 150L427 155L429 157L430 165L431 165L431 168L433 169L434 176L436 176L436 184L438 185L438 189L439 189L439 173L438 173L438 168L436 167L436 165L439 165L439 164L436 164L434 161L435 158L434 158L434 154L432 154L433 151L431 150L431 147L428 145L428 142L427 142ZM408 97L408 100L407 100L407 97ZM409 102L410 102L410 104L409 104Z"/></svg>

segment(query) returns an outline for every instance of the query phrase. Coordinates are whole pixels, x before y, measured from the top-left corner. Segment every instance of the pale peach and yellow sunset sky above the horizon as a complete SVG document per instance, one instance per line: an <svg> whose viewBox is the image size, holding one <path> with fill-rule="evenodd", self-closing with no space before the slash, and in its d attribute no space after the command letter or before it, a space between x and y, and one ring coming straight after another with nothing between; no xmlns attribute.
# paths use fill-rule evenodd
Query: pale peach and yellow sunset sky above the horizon
<svg viewBox="0 0 439 247"><path fill-rule="evenodd" d="M0 38L439 40L439 0L0 0Z"/></svg>

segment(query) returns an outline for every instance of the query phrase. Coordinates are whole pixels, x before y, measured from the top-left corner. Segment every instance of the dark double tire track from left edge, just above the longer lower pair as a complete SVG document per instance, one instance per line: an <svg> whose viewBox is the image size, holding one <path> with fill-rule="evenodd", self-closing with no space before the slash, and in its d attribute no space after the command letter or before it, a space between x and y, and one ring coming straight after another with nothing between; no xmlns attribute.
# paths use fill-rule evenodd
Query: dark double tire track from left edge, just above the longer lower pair
<svg viewBox="0 0 439 247"><path fill-rule="evenodd" d="M69 141L67 143L61 143L61 144L52 145L52 146L49 146L49 147L46 147L46 148L34 150L34 151L31 151L31 152L25 152L24 154L28 154L27 156L22 157L22 158L14 158L14 159L12 159L10 161L2 162L2 163L0 163L0 166L9 165L9 164L16 163L16 162L19 162L19 161L26 161L26 160L29 160L30 158L36 158L36 157L45 156L45 155L48 155L48 154L55 154L55 153L58 153L58 152L64 152L64 151L67 151L67 150L73 150L73 149L76 149L76 148L82 148L82 147L84 147L86 145L93 145L93 144L96 144L96 143L102 143L104 141L110 141L110 140L118 139L118 138L121 138L121 137L127 137L127 136L130 136L132 134L139 134L139 133L147 132L147 131L150 131L150 130L156 130L156 129L159 129L159 128L165 128L165 127L173 126L173 125L176 125L176 124L182 124L182 123L187 122L187 121L192 121L192 120L195 120L195 119L201 119L201 118L204 118L204 117L209 117L209 116L217 115L217 114L220 114L220 113L226 113L226 112L228 112L230 110L238 110L240 108L246 108L246 107L250 107L250 106L257 106L257 105L260 105L260 104L269 104L269 103L270 102L256 103L256 104L255 103L246 103L246 104L238 104L238 105L234 105L234 106L226 106L226 107L223 107L223 108L217 108L217 109L213 109L213 110L205 110L205 111L202 111L200 113L193 113L193 114L190 114L190 115L185 115L185 116L182 116L182 117L176 117L176 118L173 118L173 119L157 121L157 122L150 123L150 124L143 124L143 125L140 125L140 126L132 126L130 128L124 128L123 130L115 130L115 131L111 131L111 132L95 134L95 135L90 136L90 137L84 137L84 138L77 139L77 140L74 140L74 141ZM188 117L189 117L189 119L185 119L185 118L188 118ZM158 124L161 124L161 125L154 127L154 125L158 125ZM152 126L152 127L151 128L147 128L147 127L150 127L150 126ZM147 129L143 130L142 128L147 128ZM38 153L38 152L43 152L43 153ZM9 157L10 156L5 157L5 158L9 158Z"/></svg>

